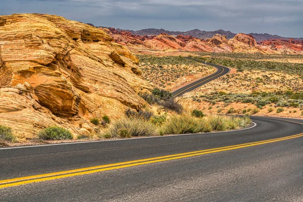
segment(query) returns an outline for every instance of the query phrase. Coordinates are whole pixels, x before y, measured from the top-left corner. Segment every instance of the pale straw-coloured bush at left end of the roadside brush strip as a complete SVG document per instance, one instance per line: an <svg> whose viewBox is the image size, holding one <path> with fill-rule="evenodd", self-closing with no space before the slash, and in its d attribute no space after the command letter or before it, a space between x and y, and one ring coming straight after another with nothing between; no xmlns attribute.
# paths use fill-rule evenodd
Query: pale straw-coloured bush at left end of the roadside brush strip
<svg viewBox="0 0 303 202"><path fill-rule="evenodd" d="M138 118L122 118L112 124L107 131L110 137L155 136L156 127L152 123Z"/></svg>

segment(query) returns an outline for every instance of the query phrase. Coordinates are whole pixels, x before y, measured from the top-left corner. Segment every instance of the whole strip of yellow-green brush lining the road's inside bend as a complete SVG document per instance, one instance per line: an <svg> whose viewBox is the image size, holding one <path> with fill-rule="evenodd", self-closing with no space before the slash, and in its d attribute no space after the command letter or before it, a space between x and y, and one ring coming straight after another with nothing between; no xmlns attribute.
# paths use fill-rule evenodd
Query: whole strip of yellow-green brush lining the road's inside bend
<svg viewBox="0 0 303 202"><path fill-rule="evenodd" d="M149 120L126 117L114 122L104 134L105 138L131 138L165 134L190 134L244 128L251 123L249 117L210 115L197 118L188 114L170 117L153 116Z"/></svg>

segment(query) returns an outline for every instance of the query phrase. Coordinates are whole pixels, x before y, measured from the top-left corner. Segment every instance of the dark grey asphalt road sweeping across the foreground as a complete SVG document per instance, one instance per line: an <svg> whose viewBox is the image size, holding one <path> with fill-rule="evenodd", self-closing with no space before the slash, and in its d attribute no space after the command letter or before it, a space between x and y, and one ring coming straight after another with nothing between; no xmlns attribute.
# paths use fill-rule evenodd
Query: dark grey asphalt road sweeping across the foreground
<svg viewBox="0 0 303 202"><path fill-rule="evenodd" d="M303 137L283 138L303 133L303 121L251 119L255 127L230 132L0 149L0 201L303 201ZM109 166L8 185L100 165Z"/></svg>

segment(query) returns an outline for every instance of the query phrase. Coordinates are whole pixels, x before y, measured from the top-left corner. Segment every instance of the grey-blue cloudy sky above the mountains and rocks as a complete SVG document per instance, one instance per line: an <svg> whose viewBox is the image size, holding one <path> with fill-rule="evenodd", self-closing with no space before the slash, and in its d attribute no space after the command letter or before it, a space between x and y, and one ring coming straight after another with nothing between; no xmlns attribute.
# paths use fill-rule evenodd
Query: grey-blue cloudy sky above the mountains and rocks
<svg viewBox="0 0 303 202"><path fill-rule="evenodd" d="M303 0L1 0L0 15L47 13L96 26L303 37Z"/></svg>

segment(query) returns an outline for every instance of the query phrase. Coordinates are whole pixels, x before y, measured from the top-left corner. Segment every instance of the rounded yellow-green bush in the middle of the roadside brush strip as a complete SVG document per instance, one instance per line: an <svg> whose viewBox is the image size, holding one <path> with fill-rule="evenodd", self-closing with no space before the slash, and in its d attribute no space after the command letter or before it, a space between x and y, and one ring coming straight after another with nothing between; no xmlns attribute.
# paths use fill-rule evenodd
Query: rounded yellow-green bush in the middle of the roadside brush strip
<svg viewBox="0 0 303 202"><path fill-rule="evenodd" d="M188 115L175 115L163 124L164 134L188 134L210 132L211 126L205 119L197 119Z"/></svg>

